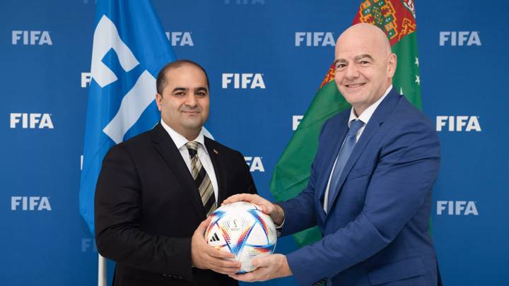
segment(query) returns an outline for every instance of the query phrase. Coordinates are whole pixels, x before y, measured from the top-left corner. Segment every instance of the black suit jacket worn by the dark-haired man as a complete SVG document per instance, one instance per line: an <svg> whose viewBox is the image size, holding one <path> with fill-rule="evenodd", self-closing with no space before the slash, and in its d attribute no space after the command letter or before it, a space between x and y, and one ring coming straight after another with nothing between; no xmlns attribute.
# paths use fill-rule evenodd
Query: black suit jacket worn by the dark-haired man
<svg viewBox="0 0 509 286"><path fill-rule="evenodd" d="M205 138L218 181L218 204L256 193L244 157ZM205 210L189 169L160 124L108 151L95 190L95 240L117 262L115 286L238 285L191 267L191 237Z"/></svg>

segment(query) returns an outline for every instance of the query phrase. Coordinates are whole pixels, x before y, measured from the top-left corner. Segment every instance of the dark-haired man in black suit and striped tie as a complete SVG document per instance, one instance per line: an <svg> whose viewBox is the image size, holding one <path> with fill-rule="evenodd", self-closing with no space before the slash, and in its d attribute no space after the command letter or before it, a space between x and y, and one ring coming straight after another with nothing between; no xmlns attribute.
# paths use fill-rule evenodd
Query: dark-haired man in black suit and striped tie
<svg viewBox="0 0 509 286"><path fill-rule="evenodd" d="M256 193L249 169L238 151L204 137L209 78L199 64L174 61L156 85L160 123L103 160L95 191L99 253L117 262L115 286L238 285L228 274L240 263L206 244L204 230L225 198Z"/></svg>

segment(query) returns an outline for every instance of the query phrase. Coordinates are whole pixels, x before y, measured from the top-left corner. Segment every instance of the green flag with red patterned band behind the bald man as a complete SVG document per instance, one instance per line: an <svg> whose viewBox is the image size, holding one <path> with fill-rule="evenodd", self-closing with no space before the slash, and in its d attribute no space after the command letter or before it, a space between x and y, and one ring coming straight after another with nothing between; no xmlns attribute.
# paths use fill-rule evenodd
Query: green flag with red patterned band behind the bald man
<svg viewBox="0 0 509 286"><path fill-rule="evenodd" d="M417 56L416 20L412 0L365 0L353 24L370 23L385 31L397 55L393 85L399 93L421 109L419 57ZM350 108L334 83L334 65L329 68L315 98L293 133L290 143L274 168L270 189L278 201L288 200L307 185L310 167L317 152L318 136L324 122ZM317 227L294 234L299 246L321 239Z"/></svg>

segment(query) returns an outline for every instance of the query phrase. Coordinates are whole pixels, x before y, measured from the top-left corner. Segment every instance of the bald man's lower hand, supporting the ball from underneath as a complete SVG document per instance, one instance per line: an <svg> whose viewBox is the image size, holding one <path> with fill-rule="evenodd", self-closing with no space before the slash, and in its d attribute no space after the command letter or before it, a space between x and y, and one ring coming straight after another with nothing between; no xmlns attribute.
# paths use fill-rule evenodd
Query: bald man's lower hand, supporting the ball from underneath
<svg viewBox="0 0 509 286"><path fill-rule="evenodd" d="M271 254L263 258L254 258L253 266L257 267L250 273L228 275L233 279L244 282L267 281L292 275L286 256L283 254Z"/></svg>

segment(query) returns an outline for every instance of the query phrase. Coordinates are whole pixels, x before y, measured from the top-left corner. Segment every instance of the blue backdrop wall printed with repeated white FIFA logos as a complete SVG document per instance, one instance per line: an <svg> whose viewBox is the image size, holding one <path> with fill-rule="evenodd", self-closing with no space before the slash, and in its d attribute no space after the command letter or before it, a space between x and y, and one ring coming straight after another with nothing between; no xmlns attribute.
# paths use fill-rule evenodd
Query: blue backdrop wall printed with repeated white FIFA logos
<svg viewBox="0 0 509 286"><path fill-rule="evenodd" d="M209 72L206 128L245 155L259 193L274 200L274 166L334 60L334 42L361 2L382 1L152 2L175 56ZM95 5L0 1L1 285L96 283L97 249L78 208ZM507 285L509 4L422 0L415 11L415 81L442 145L431 223L443 280ZM285 237L276 253L296 247Z"/></svg>

